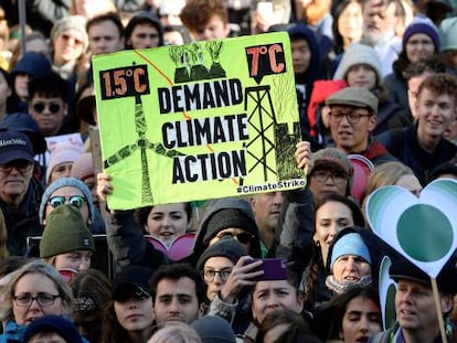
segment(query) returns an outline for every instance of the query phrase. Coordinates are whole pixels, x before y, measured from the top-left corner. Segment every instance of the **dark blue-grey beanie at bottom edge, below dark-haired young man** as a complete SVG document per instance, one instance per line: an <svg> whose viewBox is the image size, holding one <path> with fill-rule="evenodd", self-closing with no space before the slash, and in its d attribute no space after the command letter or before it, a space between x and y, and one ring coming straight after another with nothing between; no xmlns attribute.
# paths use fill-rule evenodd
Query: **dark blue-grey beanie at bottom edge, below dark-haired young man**
<svg viewBox="0 0 457 343"><path fill-rule="evenodd" d="M204 315L194 321L191 328L196 331L203 343L236 343L232 326L219 315Z"/></svg>

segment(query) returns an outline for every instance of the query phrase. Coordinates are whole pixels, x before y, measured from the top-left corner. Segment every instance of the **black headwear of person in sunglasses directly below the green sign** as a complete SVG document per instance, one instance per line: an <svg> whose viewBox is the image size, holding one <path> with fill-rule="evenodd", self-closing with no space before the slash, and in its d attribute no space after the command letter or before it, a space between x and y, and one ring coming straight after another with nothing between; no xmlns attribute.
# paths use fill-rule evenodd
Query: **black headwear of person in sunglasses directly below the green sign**
<svg viewBox="0 0 457 343"><path fill-rule="evenodd" d="M221 231L234 227L242 228L258 237L257 226L254 218L249 217L243 210L224 208L214 213L208 221L206 233L203 237L203 244L208 246L210 240Z"/></svg>

